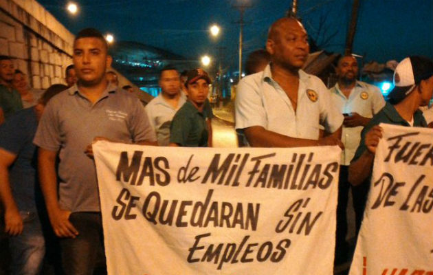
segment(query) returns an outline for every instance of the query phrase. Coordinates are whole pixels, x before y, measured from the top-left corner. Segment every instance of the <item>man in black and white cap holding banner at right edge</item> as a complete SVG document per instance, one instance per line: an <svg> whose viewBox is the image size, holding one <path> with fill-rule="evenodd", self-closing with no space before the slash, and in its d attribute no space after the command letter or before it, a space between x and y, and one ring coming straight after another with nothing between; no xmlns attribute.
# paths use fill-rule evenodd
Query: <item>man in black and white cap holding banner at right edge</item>
<svg viewBox="0 0 433 275"><path fill-rule="evenodd" d="M373 171L373 159L382 137L379 123L401 126L427 126L420 106L426 106L433 94L433 62L425 57L404 58L394 73L395 87L388 102L373 116L361 133L361 142L349 166L348 180L354 186L365 186L365 201Z"/></svg>

